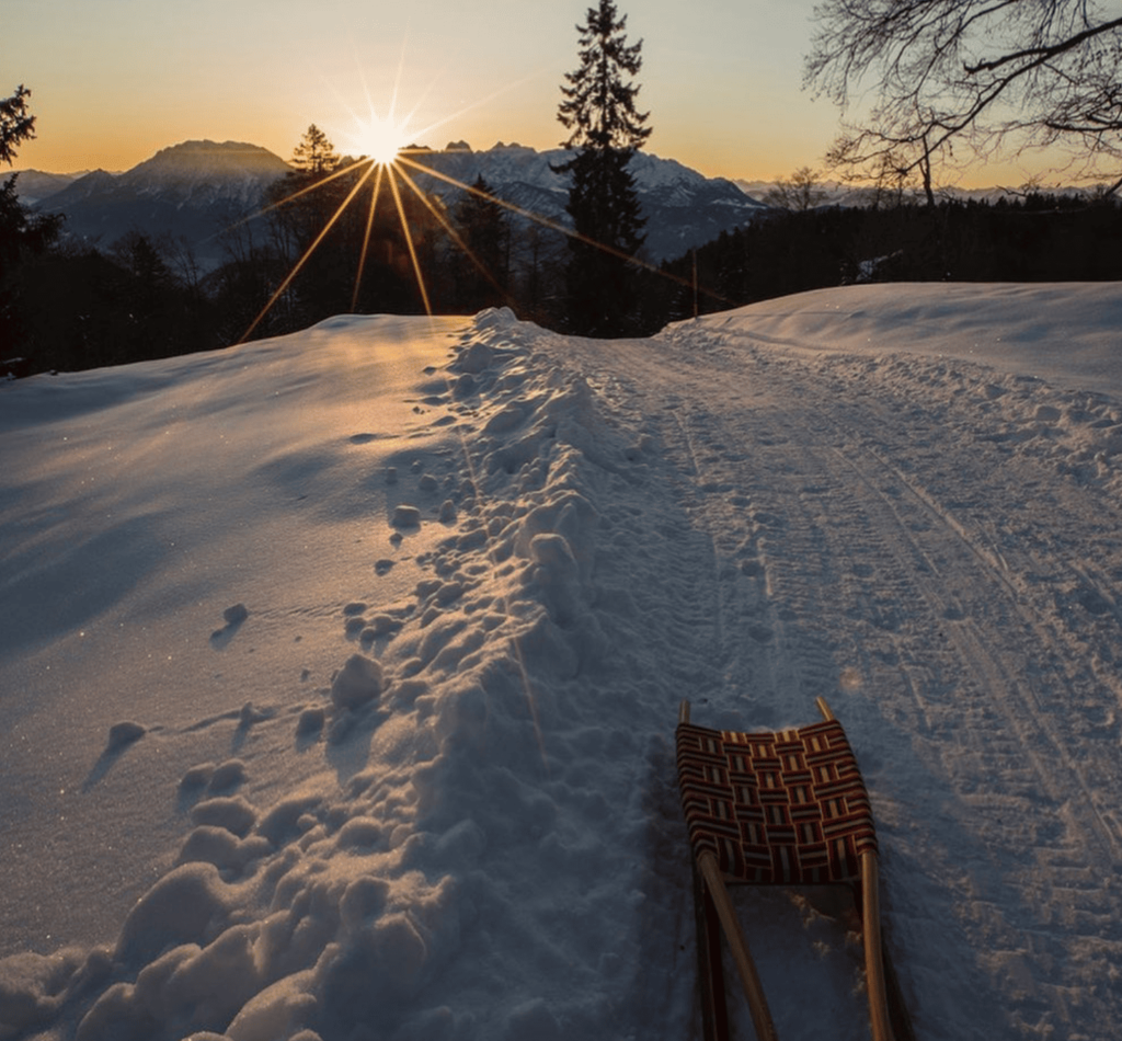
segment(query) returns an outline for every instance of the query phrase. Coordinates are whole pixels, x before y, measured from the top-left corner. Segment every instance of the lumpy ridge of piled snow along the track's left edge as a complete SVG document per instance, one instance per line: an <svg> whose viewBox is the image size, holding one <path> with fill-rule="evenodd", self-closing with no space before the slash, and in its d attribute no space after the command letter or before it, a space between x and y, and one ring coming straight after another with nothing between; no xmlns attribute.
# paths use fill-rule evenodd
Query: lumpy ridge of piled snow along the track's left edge
<svg viewBox="0 0 1122 1041"><path fill-rule="evenodd" d="M316 698L239 717L321 772L255 791L245 750L187 768L175 866L116 946L0 962L6 1035L59 1008L80 1041L603 1035L641 954L619 950L641 897L613 881L618 844L645 824L641 739L604 690L616 601L594 575L608 482L643 463L587 383L534 353L544 335L508 312L462 335L425 399L462 451L438 475L403 454L383 522L378 571L415 540L421 579L344 606L357 647ZM144 734L117 726L108 752Z"/></svg>

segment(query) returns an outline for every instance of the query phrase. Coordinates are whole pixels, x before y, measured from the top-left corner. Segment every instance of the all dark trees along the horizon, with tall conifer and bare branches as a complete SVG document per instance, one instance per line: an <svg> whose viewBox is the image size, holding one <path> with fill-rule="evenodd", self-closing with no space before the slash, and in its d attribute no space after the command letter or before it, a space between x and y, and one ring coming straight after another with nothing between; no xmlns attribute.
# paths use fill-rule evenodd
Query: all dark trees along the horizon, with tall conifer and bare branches
<svg viewBox="0 0 1122 1041"><path fill-rule="evenodd" d="M558 109L573 150L559 167L570 179L568 232L504 209L481 178L447 209L396 190L375 205L380 176L337 156L315 126L264 214L231 221L226 260L209 273L181 242L137 231L104 251L67 245L61 219L28 212L9 177L0 359L88 368L277 335L340 312L496 304L565 333L646 335L696 313L859 282L1122 277L1122 179L1097 199L992 205L940 203L934 188L956 142L985 156L1010 139L1066 140L1083 172L1122 158L1122 18L1086 0L826 0L816 18L808 85L844 109L863 76L875 80L868 118L828 154L835 169L879 186L872 208L824 208L800 172L764 219L659 270L643 265L628 169L651 135L637 107L642 40L628 43L626 16L598 0L577 26L579 65ZM29 93L0 99L9 165L34 137Z"/></svg>

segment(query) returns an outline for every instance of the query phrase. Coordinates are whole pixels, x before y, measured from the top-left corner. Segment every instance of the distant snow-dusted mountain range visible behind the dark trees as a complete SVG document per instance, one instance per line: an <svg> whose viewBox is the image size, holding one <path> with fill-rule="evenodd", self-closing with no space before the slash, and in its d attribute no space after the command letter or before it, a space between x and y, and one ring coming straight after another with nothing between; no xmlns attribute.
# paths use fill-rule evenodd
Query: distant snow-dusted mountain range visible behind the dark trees
<svg viewBox="0 0 1122 1041"><path fill-rule="evenodd" d="M462 141L441 151L410 153L414 162L463 185L482 176L504 201L562 224L568 223L567 178L554 167L568 155L563 149L536 151L503 142L475 151ZM42 212L65 213L66 233L79 241L108 248L131 230L156 238L171 234L188 245L200 267L208 269L227 259L222 230L251 214L265 188L291 169L257 145L184 141L123 173L22 171L17 191ZM631 169L647 219L647 256L654 262L681 256L766 209L732 181L706 177L673 159L640 153ZM439 176L410 173L448 206L463 194Z"/></svg>

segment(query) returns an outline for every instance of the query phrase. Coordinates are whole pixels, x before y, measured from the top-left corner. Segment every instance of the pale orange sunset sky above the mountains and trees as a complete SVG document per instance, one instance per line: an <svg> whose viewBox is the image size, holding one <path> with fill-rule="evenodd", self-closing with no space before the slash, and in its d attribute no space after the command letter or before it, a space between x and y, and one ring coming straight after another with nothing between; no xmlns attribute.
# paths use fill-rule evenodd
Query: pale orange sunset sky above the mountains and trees
<svg viewBox="0 0 1122 1041"><path fill-rule="evenodd" d="M184 140L261 145L283 158L310 123L360 151L373 104L410 140L537 149L564 137L560 85L589 0L0 0L0 93L37 118L16 168L135 166ZM838 110L802 90L813 0L623 0L643 40L647 150L707 176L820 168ZM396 104L394 100L396 98ZM967 186L1020 184L985 168Z"/></svg>

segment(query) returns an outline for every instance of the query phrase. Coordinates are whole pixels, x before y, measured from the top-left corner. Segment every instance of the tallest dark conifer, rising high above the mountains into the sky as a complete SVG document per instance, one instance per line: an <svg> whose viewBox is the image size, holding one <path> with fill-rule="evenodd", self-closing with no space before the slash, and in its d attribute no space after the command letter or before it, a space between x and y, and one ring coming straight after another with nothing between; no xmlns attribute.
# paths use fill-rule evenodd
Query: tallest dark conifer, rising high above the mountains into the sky
<svg viewBox="0 0 1122 1041"><path fill-rule="evenodd" d="M632 157L651 136L649 112L635 107L643 42L627 44L627 16L613 0L588 9L580 34L580 67L565 73L558 119L569 130L564 148L576 155L558 167L569 173L569 204L576 237L569 240L565 274L568 324L590 337L622 337L636 328L637 268L644 218Z"/></svg>

